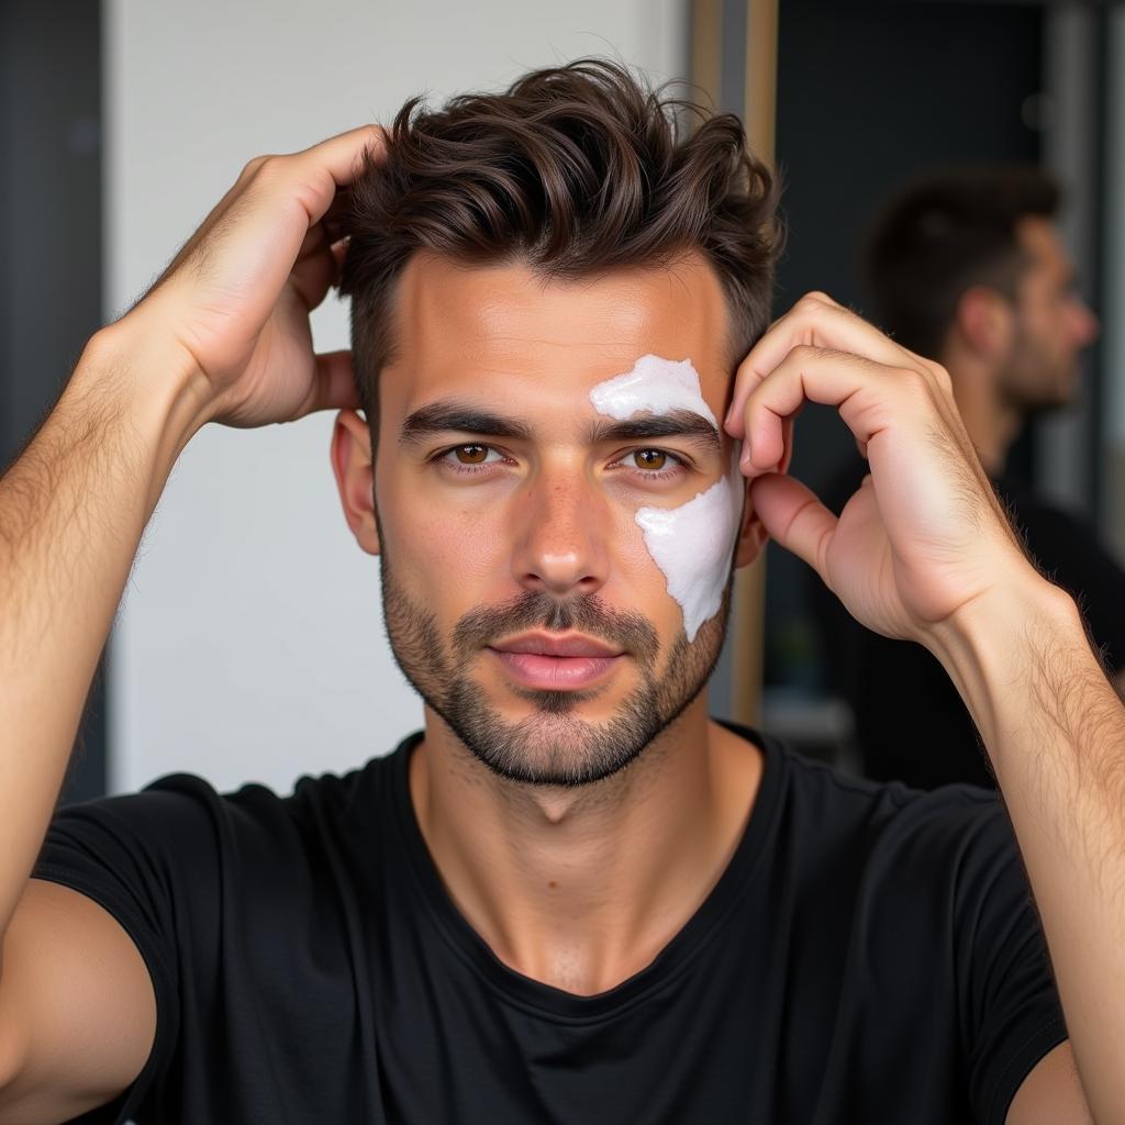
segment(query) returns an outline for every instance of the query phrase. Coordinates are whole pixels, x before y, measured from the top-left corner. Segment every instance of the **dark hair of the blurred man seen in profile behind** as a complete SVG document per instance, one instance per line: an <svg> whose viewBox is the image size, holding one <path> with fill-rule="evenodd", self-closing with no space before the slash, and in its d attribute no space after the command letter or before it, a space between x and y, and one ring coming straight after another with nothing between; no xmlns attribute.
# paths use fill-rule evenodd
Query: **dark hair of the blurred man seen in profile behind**
<svg viewBox="0 0 1125 1125"><path fill-rule="evenodd" d="M900 343L939 358L966 290L1015 300L1029 264L1018 225L1053 218L1059 186L1025 164L963 165L911 181L881 212L864 281L872 318Z"/></svg>

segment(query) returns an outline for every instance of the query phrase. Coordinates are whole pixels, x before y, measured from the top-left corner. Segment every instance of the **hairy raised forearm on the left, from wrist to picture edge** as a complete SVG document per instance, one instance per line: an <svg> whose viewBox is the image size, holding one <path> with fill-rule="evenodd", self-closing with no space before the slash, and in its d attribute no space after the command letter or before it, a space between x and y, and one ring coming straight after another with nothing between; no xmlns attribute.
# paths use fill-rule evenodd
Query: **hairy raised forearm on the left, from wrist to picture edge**
<svg viewBox="0 0 1125 1125"><path fill-rule="evenodd" d="M148 352L136 330L99 333L0 479L0 934L53 813L141 534L202 422L188 366Z"/></svg>

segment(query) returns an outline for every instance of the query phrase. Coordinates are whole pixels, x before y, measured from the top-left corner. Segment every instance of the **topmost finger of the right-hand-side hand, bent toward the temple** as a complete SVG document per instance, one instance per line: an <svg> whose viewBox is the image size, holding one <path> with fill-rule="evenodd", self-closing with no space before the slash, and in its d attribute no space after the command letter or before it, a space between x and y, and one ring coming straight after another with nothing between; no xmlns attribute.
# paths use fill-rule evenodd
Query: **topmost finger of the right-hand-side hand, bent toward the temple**
<svg viewBox="0 0 1125 1125"><path fill-rule="evenodd" d="M827 348L849 352L876 363L940 369L894 343L874 325L830 297L811 292L802 297L784 316L775 321L765 335L750 349L735 377L735 393L726 418L727 432L745 436L744 413L747 397L785 357L799 346ZM944 375L944 372L942 372Z"/></svg>

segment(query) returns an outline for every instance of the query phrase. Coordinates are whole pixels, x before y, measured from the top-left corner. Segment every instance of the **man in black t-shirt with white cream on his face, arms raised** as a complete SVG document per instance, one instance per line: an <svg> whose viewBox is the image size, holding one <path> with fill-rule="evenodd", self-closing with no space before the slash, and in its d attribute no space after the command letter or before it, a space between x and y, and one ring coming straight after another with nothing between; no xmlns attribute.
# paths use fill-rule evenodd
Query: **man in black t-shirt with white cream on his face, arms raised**
<svg viewBox="0 0 1125 1125"><path fill-rule="evenodd" d="M819 295L762 334L772 207L737 120L584 62L251 162L94 338L0 486L0 1120L1122 1116L1125 714L944 371ZM338 277L358 393L309 349ZM871 457L838 523L784 471L806 397ZM425 730L48 831L177 454L325 407ZM767 533L940 656L1019 852L991 794L708 720Z"/></svg>

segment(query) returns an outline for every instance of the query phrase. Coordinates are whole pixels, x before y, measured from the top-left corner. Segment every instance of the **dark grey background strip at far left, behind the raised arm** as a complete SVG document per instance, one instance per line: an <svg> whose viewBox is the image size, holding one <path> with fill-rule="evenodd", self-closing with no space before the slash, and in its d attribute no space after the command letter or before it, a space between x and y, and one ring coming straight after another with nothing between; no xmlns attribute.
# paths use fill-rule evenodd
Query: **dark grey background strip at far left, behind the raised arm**
<svg viewBox="0 0 1125 1125"><path fill-rule="evenodd" d="M0 465L101 324L101 6L0 3ZM106 788L99 672L63 788Z"/></svg>

